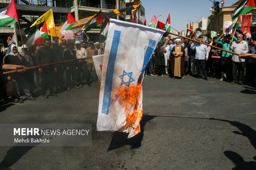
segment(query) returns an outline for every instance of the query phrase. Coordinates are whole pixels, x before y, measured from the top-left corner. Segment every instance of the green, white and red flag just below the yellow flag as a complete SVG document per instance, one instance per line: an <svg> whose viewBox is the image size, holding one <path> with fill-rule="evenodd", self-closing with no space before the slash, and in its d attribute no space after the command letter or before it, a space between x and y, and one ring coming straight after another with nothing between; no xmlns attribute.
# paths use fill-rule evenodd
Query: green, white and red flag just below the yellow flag
<svg viewBox="0 0 256 170"><path fill-rule="evenodd" d="M25 39L25 44L29 51L36 51L36 46L43 44L43 37L40 34L37 26L35 26Z"/></svg>

